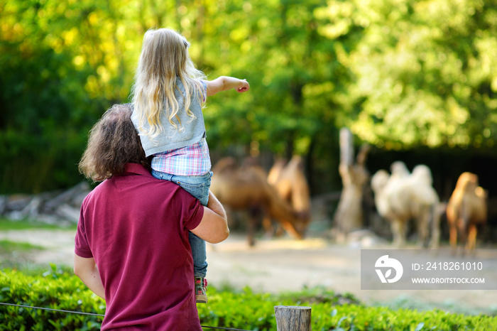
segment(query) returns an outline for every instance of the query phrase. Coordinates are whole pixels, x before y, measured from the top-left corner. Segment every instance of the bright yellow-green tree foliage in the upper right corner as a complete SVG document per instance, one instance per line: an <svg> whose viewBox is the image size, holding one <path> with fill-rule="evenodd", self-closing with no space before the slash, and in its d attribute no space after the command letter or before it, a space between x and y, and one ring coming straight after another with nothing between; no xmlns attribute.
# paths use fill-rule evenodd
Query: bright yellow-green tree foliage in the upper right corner
<svg viewBox="0 0 497 331"><path fill-rule="evenodd" d="M496 1L332 1L322 33L359 40L340 54L355 77L344 124L387 149L491 148L496 10Z"/></svg>

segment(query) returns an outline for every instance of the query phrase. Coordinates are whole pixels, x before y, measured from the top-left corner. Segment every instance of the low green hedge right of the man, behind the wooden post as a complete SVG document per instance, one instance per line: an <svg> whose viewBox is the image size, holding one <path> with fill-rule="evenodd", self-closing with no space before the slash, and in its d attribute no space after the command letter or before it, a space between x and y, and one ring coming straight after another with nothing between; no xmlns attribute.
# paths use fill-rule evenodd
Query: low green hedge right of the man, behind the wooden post
<svg viewBox="0 0 497 331"><path fill-rule="evenodd" d="M208 294L209 304L198 308L202 325L209 326L276 330L275 305L303 305L312 308L313 331L497 330L497 318L491 316L366 307L351 295L322 293L319 288L285 295L253 293L250 288L240 293L209 288Z"/></svg>

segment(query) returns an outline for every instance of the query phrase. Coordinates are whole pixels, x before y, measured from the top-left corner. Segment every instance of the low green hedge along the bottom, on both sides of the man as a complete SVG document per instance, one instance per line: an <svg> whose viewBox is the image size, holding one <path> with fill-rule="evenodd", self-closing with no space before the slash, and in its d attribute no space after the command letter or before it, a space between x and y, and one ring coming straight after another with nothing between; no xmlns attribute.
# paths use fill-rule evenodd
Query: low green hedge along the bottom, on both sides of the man
<svg viewBox="0 0 497 331"><path fill-rule="evenodd" d="M312 330L497 330L497 318L442 310L393 310L366 307L351 295L324 288L272 295L209 286L209 303L197 305L200 322L209 327L276 330L275 305L312 308ZM70 270L52 265L43 274L0 272L0 302L103 315L104 300L94 295ZM0 330L99 330L102 317L0 305ZM207 327L205 330L209 330Z"/></svg>

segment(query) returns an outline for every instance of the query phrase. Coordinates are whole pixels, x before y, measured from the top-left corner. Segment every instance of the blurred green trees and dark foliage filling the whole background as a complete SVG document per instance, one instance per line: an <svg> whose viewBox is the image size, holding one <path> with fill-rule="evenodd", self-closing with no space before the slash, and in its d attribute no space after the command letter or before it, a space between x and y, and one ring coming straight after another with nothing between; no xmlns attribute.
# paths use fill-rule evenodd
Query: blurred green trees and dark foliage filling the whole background
<svg viewBox="0 0 497 331"><path fill-rule="evenodd" d="M300 156L332 214L347 128L356 151L370 146L368 173L425 164L442 202L461 173L478 175L493 239L495 0L1 0L0 195L84 181L88 131L130 101L143 33L160 27L190 40L209 79L250 82L207 102L213 165Z"/></svg>

